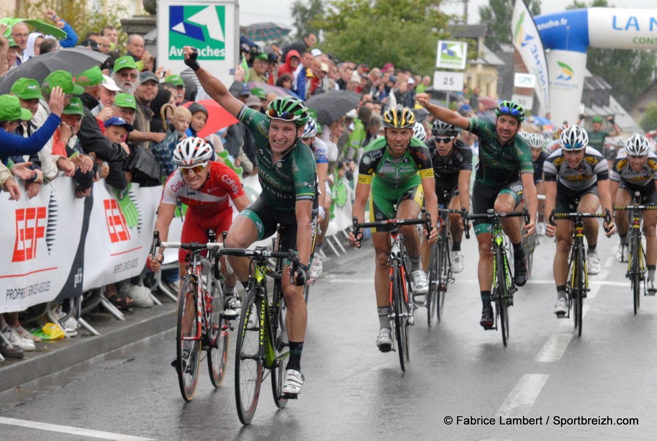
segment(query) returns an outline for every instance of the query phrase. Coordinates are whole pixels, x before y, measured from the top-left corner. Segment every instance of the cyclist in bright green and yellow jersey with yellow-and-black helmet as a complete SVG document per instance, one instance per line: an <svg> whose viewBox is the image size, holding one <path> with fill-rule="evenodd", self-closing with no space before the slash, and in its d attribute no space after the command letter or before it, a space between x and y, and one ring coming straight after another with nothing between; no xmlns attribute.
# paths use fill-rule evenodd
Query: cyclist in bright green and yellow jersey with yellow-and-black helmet
<svg viewBox="0 0 657 441"><path fill-rule="evenodd" d="M413 138L415 116L411 109L397 105L383 115L384 136L371 142L365 149L358 167L358 184L351 215L358 222L365 222L365 203L372 190L369 203L369 221L387 219L417 219L422 207L422 197L431 215L432 230L429 242L436 242L438 199L434 183L434 169L429 149L417 138ZM421 187L420 187L421 185ZM397 205L397 211L394 205ZM409 268L411 289L414 295L428 292L426 274L420 262L420 236L415 226L399 229L411 260ZM351 246L359 247L362 234L356 238L350 232ZM379 319L376 346L382 352L392 349L390 330L390 242L385 229L376 228L372 234L376 253L374 270L374 292Z"/></svg>

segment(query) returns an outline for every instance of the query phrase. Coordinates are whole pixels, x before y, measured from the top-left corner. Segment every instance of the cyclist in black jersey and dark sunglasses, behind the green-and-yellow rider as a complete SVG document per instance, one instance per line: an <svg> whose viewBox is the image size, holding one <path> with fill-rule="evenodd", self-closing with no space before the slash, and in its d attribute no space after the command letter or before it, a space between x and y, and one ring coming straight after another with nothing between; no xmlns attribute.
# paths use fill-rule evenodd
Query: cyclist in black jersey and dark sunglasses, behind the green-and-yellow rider
<svg viewBox="0 0 657 441"><path fill-rule="evenodd" d="M472 149L465 145L459 136L459 128L435 120L431 128L432 138L425 142L431 152L431 163L436 180L436 197L438 206L445 209L470 209L470 175L472 174ZM447 197L445 197L447 194ZM463 219L456 213L449 214L449 232L451 233L451 270L463 271ZM431 247L422 242L422 267L426 271L429 265Z"/></svg>

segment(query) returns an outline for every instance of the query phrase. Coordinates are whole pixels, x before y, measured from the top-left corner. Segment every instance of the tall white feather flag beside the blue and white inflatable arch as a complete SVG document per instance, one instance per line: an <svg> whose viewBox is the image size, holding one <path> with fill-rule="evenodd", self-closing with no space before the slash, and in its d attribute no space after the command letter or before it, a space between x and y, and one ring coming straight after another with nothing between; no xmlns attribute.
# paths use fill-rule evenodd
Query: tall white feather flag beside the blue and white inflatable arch
<svg viewBox="0 0 657 441"><path fill-rule="evenodd" d="M516 0L516 5L513 8L511 30L513 32L513 45L520 53L527 69L536 77L534 90L540 103L539 115L544 117L546 113L550 113L552 110L550 107L549 65L545 59L543 43L532 14L522 0Z"/></svg>

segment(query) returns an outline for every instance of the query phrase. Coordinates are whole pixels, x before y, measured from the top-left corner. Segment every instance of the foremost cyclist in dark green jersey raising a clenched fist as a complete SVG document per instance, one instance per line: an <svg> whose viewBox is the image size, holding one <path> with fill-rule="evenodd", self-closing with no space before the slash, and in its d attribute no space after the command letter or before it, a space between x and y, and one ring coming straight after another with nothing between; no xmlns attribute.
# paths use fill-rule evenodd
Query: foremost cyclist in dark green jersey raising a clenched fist
<svg viewBox="0 0 657 441"><path fill-rule="evenodd" d="M185 64L196 73L203 89L226 111L246 124L256 142L258 180L262 192L258 199L240 212L233 221L225 246L247 248L257 240L276 232L277 224L285 228L284 249L298 250L299 265L294 284L283 277L287 305L286 328L290 341L290 358L286 366L283 394L296 396L304 384L301 353L306 336L307 309L304 285L317 217L317 171L315 157L300 136L308 121L304 102L291 96L277 97L263 115L238 101L228 88L201 68L196 61L198 49L183 47ZM249 276L249 261L229 259L242 282ZM284 272L289 267L284 268Z"/></svg>

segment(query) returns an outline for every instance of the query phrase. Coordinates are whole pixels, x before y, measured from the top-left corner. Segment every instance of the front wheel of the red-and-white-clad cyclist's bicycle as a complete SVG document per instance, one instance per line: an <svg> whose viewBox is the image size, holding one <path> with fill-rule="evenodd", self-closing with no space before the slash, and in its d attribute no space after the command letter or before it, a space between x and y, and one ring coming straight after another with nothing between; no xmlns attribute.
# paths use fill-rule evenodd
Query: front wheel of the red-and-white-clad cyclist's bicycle
<svg viewBox="0 0 657 441"><path fill-rule="evenodd" d="M200 365L201 340L198 335L198 309L196 279L185 276L178 303L178 321L175 334L176 365L178 384L183 400L190 402L196 394Z"/></svg>

